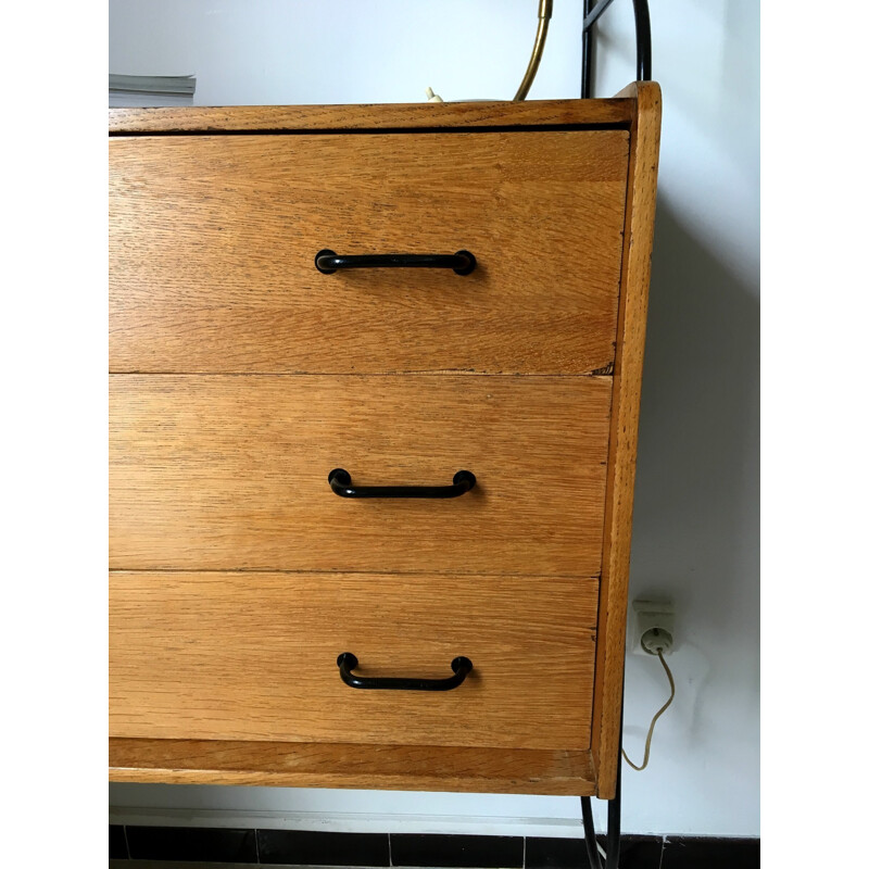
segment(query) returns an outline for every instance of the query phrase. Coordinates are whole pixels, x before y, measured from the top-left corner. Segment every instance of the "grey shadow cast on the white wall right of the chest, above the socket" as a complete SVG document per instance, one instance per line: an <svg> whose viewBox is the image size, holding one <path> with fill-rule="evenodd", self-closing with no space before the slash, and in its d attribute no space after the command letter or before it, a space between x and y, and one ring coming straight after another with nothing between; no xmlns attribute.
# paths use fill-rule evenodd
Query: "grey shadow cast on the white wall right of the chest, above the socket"
<svg viewBox="0 0 869 869"><path fill-rule="evenodd" d="M740 280L659 197L631 597L662 593L677 602L677 648L687 646L703 683L694 708L684 710L694 733L710 681L719 690L730 684L745 711L756 708L758 287L759 275L756 286ZM635 664L650 673L658 667L652 659Z"/></svg>

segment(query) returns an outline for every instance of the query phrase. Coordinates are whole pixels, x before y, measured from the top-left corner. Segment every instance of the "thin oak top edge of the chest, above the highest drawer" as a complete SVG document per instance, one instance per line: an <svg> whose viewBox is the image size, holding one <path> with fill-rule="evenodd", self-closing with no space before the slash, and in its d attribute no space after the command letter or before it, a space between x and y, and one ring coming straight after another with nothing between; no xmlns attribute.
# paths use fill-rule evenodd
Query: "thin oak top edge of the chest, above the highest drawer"
<svg viewBox="0 0 869 869"><path fill-rule="evenodd" d="M379 105L232 105L184 109L110 109L109 130L124 133L253 133L594 126L630 124L634 101L526 100L524 102L395 103Z"/></svg>

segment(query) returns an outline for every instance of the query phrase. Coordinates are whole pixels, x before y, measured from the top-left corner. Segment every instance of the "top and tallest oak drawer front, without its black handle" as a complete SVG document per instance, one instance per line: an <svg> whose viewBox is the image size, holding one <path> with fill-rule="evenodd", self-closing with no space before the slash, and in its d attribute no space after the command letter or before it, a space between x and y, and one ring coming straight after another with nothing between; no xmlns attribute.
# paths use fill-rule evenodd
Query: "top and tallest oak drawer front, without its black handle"
<svg viewBox="0 0 869 869"><path fill-rule="evenodd" d="M110 144L114 371L592 373L614 360L622 130ZM323 275L341 254L450 269Z"/></svg>

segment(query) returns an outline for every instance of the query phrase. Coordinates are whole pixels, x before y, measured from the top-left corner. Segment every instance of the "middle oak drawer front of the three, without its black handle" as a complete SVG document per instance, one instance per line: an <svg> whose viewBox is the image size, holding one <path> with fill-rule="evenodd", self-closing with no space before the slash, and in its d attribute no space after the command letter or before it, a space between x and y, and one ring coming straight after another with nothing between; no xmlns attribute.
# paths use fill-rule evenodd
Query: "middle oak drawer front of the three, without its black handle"
<svg viewBox="0 0 869 869"><path fill-rule="evenodd" d="M596 576L608 377L110 377L110 566ZM356 486L461 498L349 500Z"/></svg>

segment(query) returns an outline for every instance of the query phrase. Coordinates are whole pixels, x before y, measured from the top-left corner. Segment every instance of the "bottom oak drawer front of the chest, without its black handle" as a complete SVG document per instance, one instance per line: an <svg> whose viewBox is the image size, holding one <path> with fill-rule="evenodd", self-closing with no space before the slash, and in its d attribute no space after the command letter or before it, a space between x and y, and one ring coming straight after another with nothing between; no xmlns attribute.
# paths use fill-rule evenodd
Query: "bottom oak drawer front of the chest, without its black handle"
<svg viewBox="0 0 869 869"><path fill-rule="evenodd" d="M291 574L110 578L112 736L583 748L596 579ZM452 675L452 691L345 685Z"/></svg>

